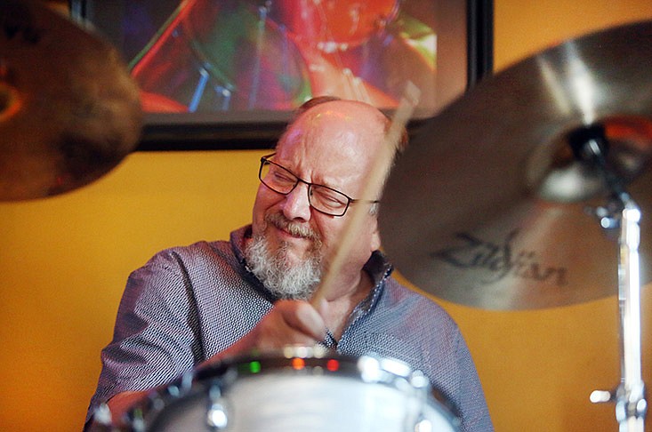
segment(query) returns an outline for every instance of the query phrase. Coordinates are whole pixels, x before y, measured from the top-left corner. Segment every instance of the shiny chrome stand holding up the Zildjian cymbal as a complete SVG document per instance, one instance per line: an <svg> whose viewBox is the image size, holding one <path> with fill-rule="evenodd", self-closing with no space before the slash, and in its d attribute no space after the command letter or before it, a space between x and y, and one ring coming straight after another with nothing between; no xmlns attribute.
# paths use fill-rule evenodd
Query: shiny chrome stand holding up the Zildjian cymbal
<svg viewBox="0 0 652 432"><path fill-rule="evenodd" d="M586 138L586 136L584 135ZM619 228L618 307L620 313L621 380L613 391L594 390L593 403L616 402L619 432L644 432L648 403L641 375L640 355L640 218L639 206L624 190L620 179L605 162L606 140L589 138L582 145L582 158L590 159L605 176L612 198L598 209L603 228Z"/></svg>

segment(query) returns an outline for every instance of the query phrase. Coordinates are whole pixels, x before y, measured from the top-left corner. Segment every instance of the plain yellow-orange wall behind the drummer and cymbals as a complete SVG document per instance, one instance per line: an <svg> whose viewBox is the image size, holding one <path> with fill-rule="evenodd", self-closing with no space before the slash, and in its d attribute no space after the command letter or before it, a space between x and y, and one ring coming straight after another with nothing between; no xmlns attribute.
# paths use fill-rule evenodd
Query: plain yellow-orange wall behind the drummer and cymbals
<svg viewBox="0 0 652 432"><path fill-rule="evenodd" d="M496 0L495 66L645 17L649 0ZM68 195L0 204L1 430L81 428L126 276L164 247L226 238L245 224L262 154L136 153ZM643 293L648 386L651 291ZM588 402L619 378L616 296L527 312L442 304L469 342L498 431L616 430L614 405Z"/></svg>

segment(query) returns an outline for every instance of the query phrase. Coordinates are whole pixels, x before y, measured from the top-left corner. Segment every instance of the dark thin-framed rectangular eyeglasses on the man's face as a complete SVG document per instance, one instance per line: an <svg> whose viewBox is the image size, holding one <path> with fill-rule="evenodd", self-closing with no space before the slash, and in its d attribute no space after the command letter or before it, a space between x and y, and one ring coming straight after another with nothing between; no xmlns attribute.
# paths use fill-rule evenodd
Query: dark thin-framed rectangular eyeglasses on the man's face
<svg viewBox="0 0 652 432"><path fill-rule="evenodd" d="M380 201L353 199L334 188L328 188L324 185L316 185L302 180L286 167L270 161L270 157L274 155L276 153L261 157L261 168L258 170L258 179L261 180L263 185L278 194L288 195L296 188L299 182L305 183L308 185L308 203L310 207L330 216L343 216L349 209L351 203L380 203Z"/></svg>

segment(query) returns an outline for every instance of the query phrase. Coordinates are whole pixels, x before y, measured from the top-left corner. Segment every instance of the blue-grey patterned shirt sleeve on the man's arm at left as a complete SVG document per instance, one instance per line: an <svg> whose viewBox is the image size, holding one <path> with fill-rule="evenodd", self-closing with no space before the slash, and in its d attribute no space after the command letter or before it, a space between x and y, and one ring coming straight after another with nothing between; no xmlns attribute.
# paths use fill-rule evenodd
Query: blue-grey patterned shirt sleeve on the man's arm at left
<svg viewBox="0 0 652 432"><path fill-rule="evenodd" d="M181 259L159 252L129 276L86 420L111 397L164 385L203 359L197 303Z"/></svg>

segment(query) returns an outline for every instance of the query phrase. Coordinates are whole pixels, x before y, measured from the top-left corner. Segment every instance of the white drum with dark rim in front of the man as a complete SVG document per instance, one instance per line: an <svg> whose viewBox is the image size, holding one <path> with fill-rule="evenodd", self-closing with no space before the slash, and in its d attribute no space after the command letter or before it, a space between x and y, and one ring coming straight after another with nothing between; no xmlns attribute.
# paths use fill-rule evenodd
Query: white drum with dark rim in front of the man
<svg viewBox="0 0 652 432"><path fill-rule="evenodd" d="M379 356L286 348L185 377L130 413L134 431L442 431L459 421L427 378Z"/></svg>

